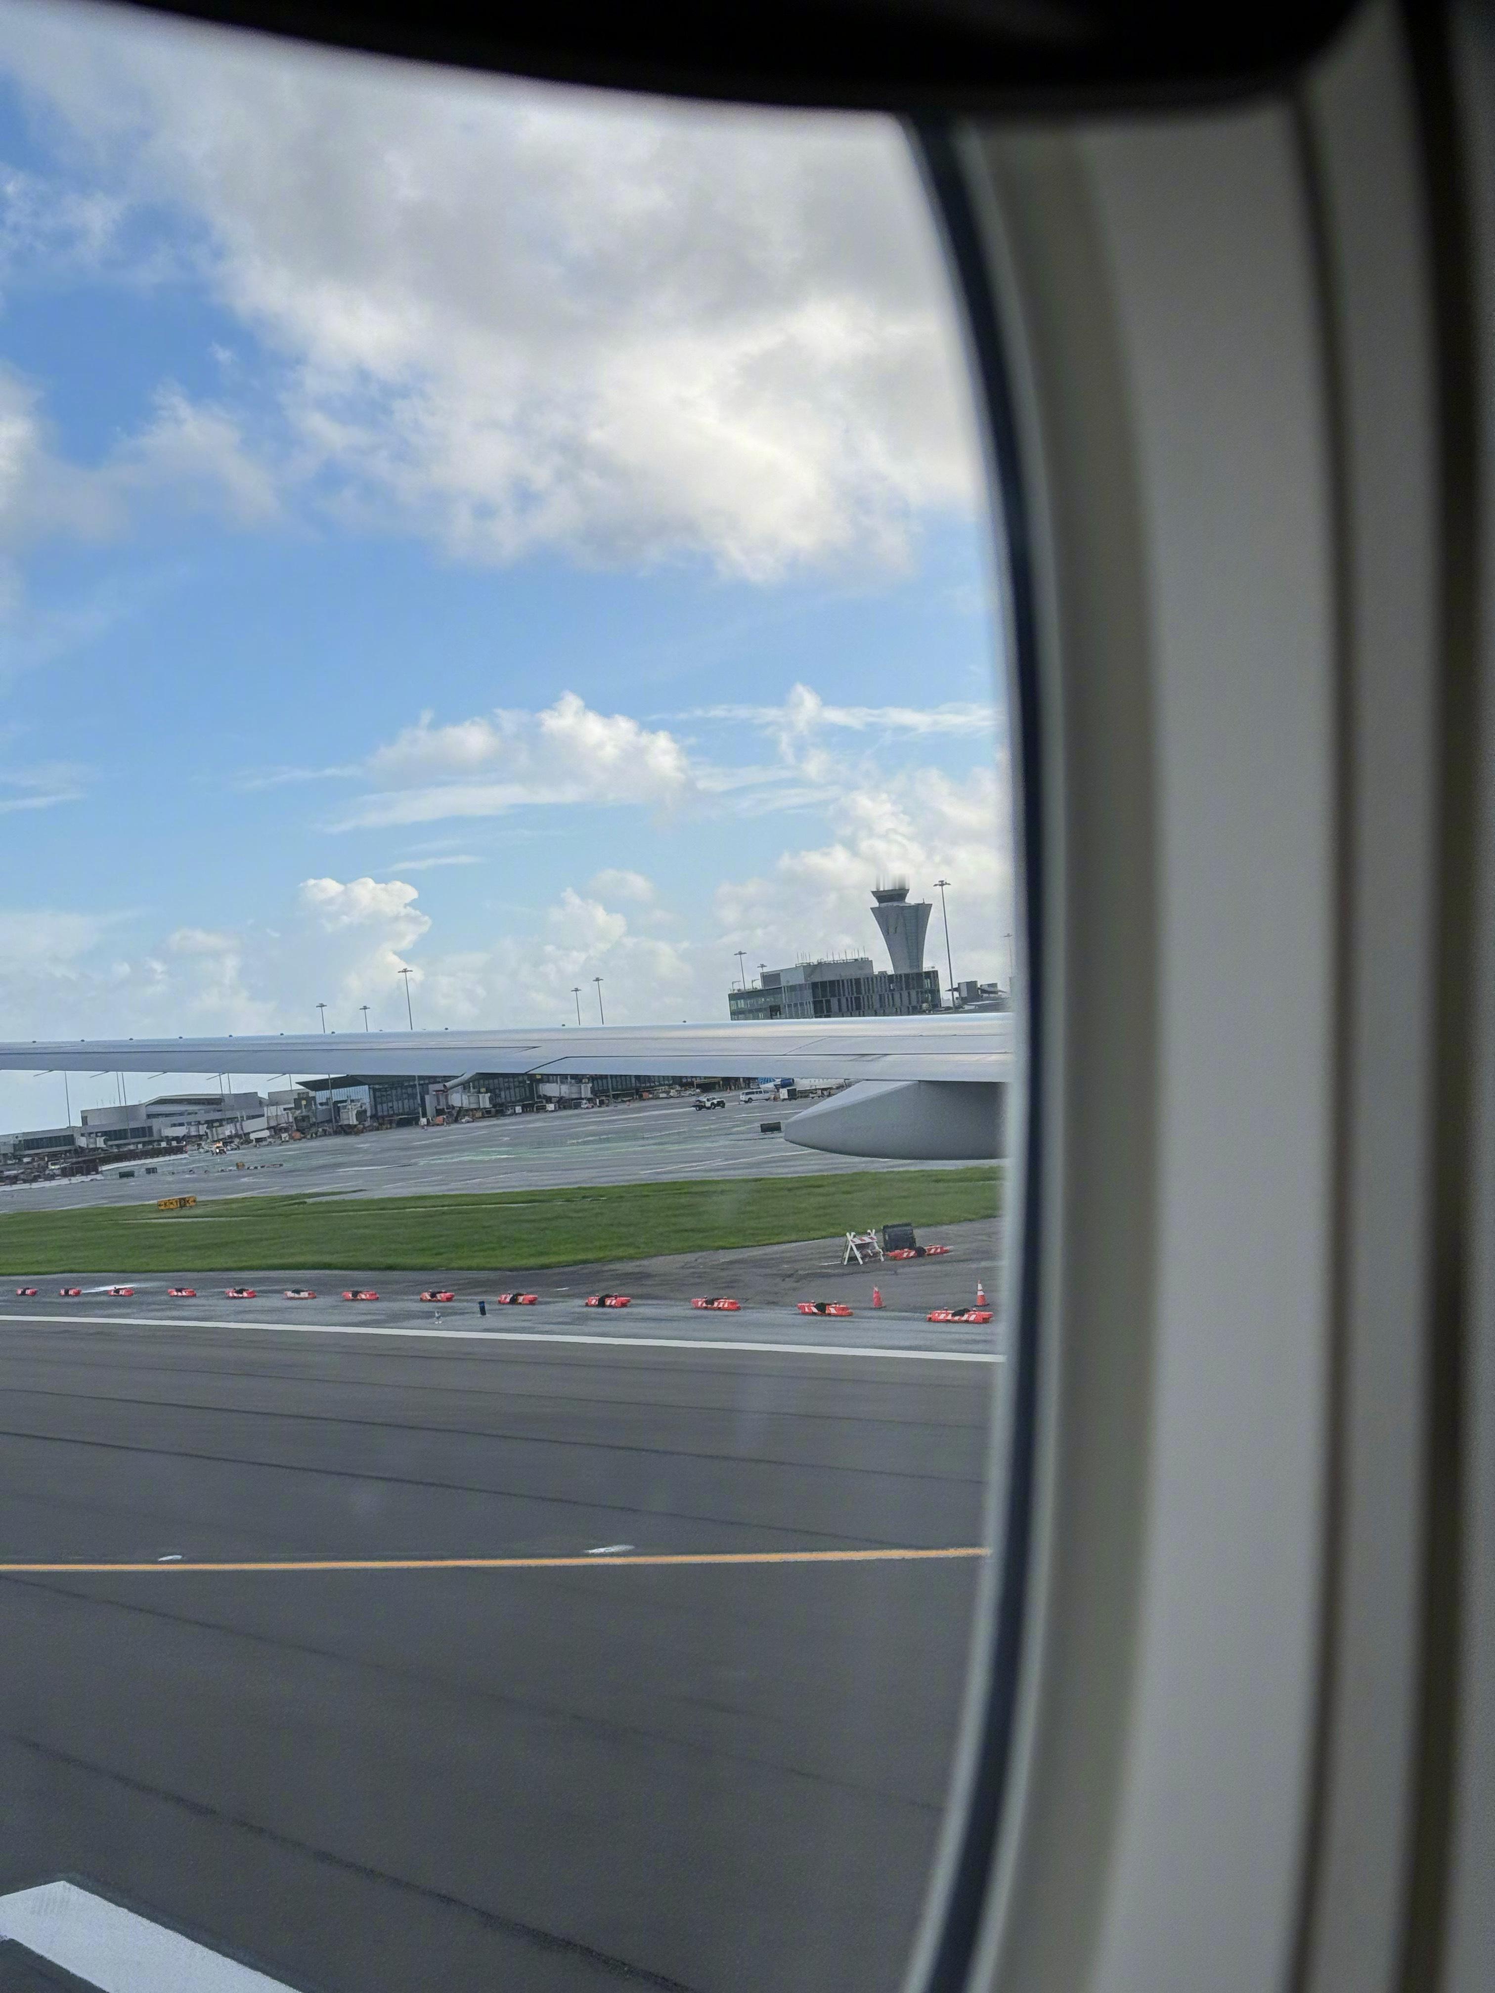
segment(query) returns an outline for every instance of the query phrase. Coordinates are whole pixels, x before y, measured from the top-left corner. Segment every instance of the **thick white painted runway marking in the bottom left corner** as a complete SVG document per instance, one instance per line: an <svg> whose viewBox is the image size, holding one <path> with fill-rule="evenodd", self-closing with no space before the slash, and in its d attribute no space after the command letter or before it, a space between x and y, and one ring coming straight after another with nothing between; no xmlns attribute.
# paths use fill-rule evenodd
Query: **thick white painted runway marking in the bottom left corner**
<svg viewBox="0 0 1495 1993"><path fill-rule="evenodd" d="M293 1993L283 1979L267 1979L72 1881L0 1895L0 1937L14 1937L102 1993Z"/></svg>

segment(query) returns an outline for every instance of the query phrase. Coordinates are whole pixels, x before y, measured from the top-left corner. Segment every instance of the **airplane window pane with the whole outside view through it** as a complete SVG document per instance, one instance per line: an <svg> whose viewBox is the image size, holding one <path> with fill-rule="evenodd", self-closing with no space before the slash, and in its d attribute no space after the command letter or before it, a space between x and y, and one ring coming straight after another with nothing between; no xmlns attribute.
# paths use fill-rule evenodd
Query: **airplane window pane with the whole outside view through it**
<svg viewBox="0 0 1495 1993"><path fill-rule="evenodd" d="M1021 981L907 142L0 72L0 1985L891 1993Z"/></svg>

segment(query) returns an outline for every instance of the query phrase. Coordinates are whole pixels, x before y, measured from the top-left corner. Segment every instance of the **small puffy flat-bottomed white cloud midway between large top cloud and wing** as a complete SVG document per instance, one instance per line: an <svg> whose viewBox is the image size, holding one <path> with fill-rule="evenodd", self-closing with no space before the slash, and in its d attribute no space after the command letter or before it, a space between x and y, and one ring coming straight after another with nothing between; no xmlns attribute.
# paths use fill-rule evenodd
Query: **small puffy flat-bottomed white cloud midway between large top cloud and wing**
<svg viewBox="0 0 1495 1993"><path fill-rule="evenodd" d="M538 713L494 708L448 725L423 713L369 755L365 775L371 793L333 829L498 817L554 803L662 807L692 787L672 733L628 713L598 713L574 692Z"/></svg>

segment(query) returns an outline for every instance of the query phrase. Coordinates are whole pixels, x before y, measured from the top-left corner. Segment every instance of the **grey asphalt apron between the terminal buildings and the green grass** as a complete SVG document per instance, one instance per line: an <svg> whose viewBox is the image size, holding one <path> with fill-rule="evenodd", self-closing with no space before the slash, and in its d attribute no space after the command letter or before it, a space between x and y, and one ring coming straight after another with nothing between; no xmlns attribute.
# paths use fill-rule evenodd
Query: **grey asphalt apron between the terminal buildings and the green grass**
<svg viewBox="0 0 1495 1993"><path fill-rule="evenodd" d="M692 1176L825 1176L909 1170L907 1162L829 1156L761 1134L789 1120L793 1100L696 1110L690 1100L636 1100L612 1108L512 1114L450 1128L389 1128L315 1142L271 1142L227 1156L165 1156L136 1176L74 1176L0 1184L0 1214L66 1206L138 1204L144 1196L395 1198L576 1184L648 1184ZM949 1168L949 1164L929 1166ZM146 1172L153 1170L153 1176Z"/></svg>

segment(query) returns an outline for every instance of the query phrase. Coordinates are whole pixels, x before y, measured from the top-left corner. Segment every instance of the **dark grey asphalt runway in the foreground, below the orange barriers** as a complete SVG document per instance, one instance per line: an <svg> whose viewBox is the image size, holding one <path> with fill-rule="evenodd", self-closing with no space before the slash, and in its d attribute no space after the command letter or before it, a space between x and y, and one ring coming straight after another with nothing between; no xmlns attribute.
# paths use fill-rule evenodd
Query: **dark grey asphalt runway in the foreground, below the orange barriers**
<svg viewBox="0 0 1495 1993"><path fill-rule="evenodd" d="M841 1553L981 1545L991 1343L437 1325L429 1278L6 1293L2 1561L146 1568L0 1572L0 1893L74 1875L299 1993L891 1993L983 1559ZM682 1555L753 1561L638 1561Z"/></svg>

